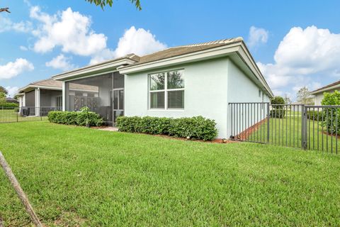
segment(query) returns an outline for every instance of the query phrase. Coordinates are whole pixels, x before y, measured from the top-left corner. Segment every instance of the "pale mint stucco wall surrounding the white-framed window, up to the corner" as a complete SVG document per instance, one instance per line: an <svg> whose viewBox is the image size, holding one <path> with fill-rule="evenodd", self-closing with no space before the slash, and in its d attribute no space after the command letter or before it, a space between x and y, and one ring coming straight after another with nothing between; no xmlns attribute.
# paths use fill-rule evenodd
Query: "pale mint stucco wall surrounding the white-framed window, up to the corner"
<svg viewBox="0 0 340 227"><path fill-rule="evenodd" d="M147 75L141 72L125 75L125 116L204 116L217 123L219 137L227 135L227 58L195 62L152 72L183 69L184 109L148 109Z"/></svg>

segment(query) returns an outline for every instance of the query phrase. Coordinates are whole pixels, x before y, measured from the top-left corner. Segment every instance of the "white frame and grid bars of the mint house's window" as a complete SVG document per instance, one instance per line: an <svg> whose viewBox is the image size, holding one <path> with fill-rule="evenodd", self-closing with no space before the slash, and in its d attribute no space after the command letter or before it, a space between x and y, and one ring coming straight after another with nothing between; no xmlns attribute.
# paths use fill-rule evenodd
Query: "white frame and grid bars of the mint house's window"
<svg viewBox="0 0 340 227"><path fill-rule="evenodd" d="M181 71L181 74L183 76L184 74L184 70L169 70L169 71L164 71L164 72L154 72L154 73L150 73L147 74L147 87L148 87L148 92L149 92L149 110L184 110L185 109L185 105L183 106L183 108L168 108L168 92L176 92L176 91L184 91L186 89L186 81L184 80L184 87L183 88L176 88L176 89L168 89L168 72L174 72L174 71ZM162 90L154 90L152 91L150 89L150 85L151 85L151 76L154 74L161 74L164 73L164 89ZM164 108L152 108L151 107L151 94L152 93L157 93L157 92L164 92ZM186 92L184 92L184 100L186 100Z"/></svg>

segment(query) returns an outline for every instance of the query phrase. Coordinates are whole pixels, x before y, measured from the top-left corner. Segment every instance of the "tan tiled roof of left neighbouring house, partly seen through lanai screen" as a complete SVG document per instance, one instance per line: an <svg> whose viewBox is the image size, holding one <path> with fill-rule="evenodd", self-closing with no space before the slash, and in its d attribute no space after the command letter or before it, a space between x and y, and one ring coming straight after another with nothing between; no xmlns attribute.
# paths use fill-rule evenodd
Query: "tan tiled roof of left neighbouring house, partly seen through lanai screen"
<svg viewBox="0 0 340 227"><path fill-rule="evenodd" d="M38 82L33 82L28 84L26 87L23 87L19 89L19 92L28 92L31 89L35 88L41 88L41 89L47 89L47 90L62 90L62 82L55 79L42 79ZM98 92L98 87L91 86L91 85L85 85L85 84L69 84L70 89L74 90L85 90L85 91L93 91Z"/></svg>

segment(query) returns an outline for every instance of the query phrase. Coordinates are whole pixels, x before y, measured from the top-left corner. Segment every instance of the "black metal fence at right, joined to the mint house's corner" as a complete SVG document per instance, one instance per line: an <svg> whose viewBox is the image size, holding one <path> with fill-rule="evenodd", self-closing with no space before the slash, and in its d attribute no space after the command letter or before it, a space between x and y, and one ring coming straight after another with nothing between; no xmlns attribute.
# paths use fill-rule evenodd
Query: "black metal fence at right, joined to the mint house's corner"
<svg viewBox="0 0 340 227"><path fill-rule="evenodd" d="M231 139L338 153L340 106L229 103Z"/></svg>

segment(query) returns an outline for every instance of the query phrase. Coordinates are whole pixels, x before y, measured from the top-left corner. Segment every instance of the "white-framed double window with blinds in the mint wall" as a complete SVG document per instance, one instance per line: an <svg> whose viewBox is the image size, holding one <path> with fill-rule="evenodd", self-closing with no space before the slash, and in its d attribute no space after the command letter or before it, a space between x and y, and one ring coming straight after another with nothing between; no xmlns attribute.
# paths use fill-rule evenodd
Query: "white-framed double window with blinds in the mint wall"
<svg viewBox="0 0 340 227"><path fill-rule="evenodd" d="M150 109L184 109L183 70L149 74Z"/></svg>

